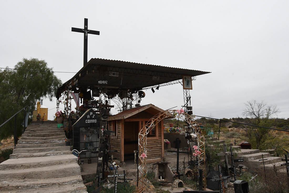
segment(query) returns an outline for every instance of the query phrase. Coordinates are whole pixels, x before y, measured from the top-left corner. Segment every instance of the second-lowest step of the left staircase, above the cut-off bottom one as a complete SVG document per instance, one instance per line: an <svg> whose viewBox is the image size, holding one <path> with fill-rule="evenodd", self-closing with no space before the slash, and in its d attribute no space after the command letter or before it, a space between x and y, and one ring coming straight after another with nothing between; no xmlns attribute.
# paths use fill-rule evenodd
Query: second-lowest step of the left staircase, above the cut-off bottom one
<svg viewBox="0 0 289 193"><path fill-rule="evenodd" d="M29 191L29 189L31 188L33 188L34 191L37 191L38 189L41 190L41 188L53 188L54 186L75 185L78 183L83 183L80 175L61 177L61 178L30 179L30 180L20 180L20 181L6 181L6 180L1 181L0 180L0 187L1 187L1 192L2 191L9 191L9 192L19 191L19 189L21 189L21 191L23 192L30 192L32 191L32 190Z"/></svg>

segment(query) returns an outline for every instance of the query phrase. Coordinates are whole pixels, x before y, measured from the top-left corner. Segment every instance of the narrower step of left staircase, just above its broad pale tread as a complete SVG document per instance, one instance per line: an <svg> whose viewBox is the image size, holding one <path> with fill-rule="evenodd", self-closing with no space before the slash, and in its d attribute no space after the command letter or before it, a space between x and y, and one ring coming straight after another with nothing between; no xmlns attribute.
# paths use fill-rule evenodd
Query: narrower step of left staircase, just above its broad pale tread
<svg viewBox="0 0 289 193"><path fill-rule="evenodd" d="M70 146L38 147L38 148L16 148L13 153L40 153L40 152L57 152L70 150Z"/></svg>

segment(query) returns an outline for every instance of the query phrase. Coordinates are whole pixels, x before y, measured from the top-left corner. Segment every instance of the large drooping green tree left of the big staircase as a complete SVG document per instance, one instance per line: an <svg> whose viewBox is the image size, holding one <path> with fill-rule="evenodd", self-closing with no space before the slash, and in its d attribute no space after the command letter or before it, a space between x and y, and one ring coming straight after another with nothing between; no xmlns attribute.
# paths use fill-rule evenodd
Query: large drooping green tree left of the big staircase
<svg viewBox="0 0 289 193"><path fill-rule="evenodd" d="M15 69L0 70L0 124L10 118L18 110L28 105L30 111L35 109L36 101L49 98L52 101L56 90L62 82L45 60L23 58ZM21 135L21 123L24 113L17 115L17 134ZM6 123L0 128L0 140L13 134L14 121Z"/></svg>

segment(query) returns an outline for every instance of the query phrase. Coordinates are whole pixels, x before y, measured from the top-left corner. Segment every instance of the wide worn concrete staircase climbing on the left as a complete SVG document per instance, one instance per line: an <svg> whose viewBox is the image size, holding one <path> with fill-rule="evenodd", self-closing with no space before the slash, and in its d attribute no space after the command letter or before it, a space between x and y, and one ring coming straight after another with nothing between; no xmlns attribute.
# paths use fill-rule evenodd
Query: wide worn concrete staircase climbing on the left
<svg viewBox="0 0 289 193"><path fill-rule="evenodd" d="M0 163L0 192L86 193L77 157L54 121L29 125L10 159Z"/></svg>

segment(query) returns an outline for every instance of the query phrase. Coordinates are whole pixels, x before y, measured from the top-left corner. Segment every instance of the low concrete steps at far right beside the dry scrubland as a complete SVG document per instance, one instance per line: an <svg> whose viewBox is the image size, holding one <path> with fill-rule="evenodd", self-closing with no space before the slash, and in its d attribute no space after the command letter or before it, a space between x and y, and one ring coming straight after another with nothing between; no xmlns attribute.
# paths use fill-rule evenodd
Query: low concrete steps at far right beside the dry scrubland
<svg viewBox="0 0 289 193"><path fill-rule="evenodd" d="M239 162L236 164L244 164L249 169L263 168L263 162L259 161L259 159L262 159L263 154L264 159L267 159L264 160L265 169L273 169L274 165L276 168L285 168L285 166L281 166L281 164L285 163L284 161L282 161L281 157L270 156L270 153L262 153L259 149L241 149L241 146L233 147L240 149L240 151L236 152L238 158L244 158L244 162Z"/></svg>

